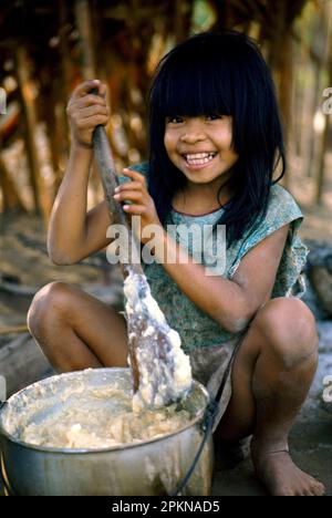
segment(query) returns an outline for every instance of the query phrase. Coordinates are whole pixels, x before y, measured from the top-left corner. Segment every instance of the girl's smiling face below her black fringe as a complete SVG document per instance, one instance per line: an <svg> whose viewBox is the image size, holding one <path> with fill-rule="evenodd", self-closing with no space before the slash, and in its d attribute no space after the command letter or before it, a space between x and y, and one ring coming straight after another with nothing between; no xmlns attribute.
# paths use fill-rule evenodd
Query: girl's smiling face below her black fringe
<svg viewBox="0 0 332 518"><path fill-rule="evenodd" d="M231 116L166 118L164 144L168 157L194 184L226 179L227 172L238 159L231 148Z"/></svg>

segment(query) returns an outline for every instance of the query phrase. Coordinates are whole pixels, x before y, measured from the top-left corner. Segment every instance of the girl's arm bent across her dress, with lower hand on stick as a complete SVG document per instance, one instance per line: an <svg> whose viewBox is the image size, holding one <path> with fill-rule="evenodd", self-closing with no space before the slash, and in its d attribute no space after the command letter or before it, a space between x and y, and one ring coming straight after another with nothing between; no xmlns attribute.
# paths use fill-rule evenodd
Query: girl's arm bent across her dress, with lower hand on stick
<svg viewBox="0 0 332 518"><path fill-rule="evenodd" d="M289 226L276 230L253 247L243 257L231 280L221 276L207 276L203 265L183 263L186 262L187 253L163 228L144 176L128 169L124 170L124 175L132 182L116 189L116 199L132 201L133 205L124 206L124 209L141 216L142 230L147 225L158 226L159 232L154 237L154 252L167 273L201 311L224 329L230 332L245 329L271 297ZM138 237L142 242L148 244L142 235ZM167 256L176 258L175 262L164 261Z"/></svg>

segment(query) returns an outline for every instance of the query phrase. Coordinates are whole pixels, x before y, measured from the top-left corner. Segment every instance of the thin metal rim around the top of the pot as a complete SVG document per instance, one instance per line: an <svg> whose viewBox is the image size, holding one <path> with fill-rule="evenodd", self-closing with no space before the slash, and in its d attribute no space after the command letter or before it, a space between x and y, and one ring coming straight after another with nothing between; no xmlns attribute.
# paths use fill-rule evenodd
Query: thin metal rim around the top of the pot
<svg viewBox="0 0 332 518"><path fill-rule="evenodd" d="M51 383L49 380L51 380L51 379L54 380L55 377L71 377L71 376L74 377L76 374L83 373L85 371L98 371L100 373L110 372L110 371L113 371L113 372L115 372L115 371L116 372L128 372L129 369L128 367L85 369L83 371L74 371L74 372L65 372L65 373L62 373L62 374L55 374L53 376L45 377L44 380L37 381L37 382L32 383L31 385L25 386L24 388L21 388L20 391L12 394L8 398L8 401L10 401L12 397L21 394L22 392L27 391L28 388L31 388L37 384L41 384L42 382ZM17 444L17 445L19 445L19 446L21 446L21 447L23 447L25 449L35 449L38 452L46 452L46 453L60 454L60 455L61 454L70 454L70 455L85 454L85 455L89 455L89 454L97 454L97 453L102 454L102 453L107 453L107 452L123 450L123 449L129 449L129 448L135 448L135 447L139 447L139 446L145 446L146 444L151 444L151 443L157 443L159 441L164 441L167 437L176 436L176 435L185 432L186 429L190 428L193 425L197 424L198 421L204 416L206 407L207 407L207 405L208 405L208 403L210 401L210 395L209 395L207 388L201 383L197 382L196 380L193 380L193 386L194 385L198 385L199 390L206 396L206 405L201 410L199 410L197 412L195 417L193 417L189 421L188 424L186 424L185 426L178 428L176 432L169 432L168 434L164 434L164 435L153 437L153 438L149 438L149 439L136 441L135 443L127 443L127 444L123 444L121 446L108 446L108 447L105 447L105 448L58 448L58 447L53 447L53 446L39 446L39 445L35 445L35 444L25 443L23 441L20 441L18 438L13 437L3 427L2 413L6 410L8 401L4 402L4 405L0 408L0 438L1 438L1 435L3 435L11 443L14 443L14 444Z"/></svg>

